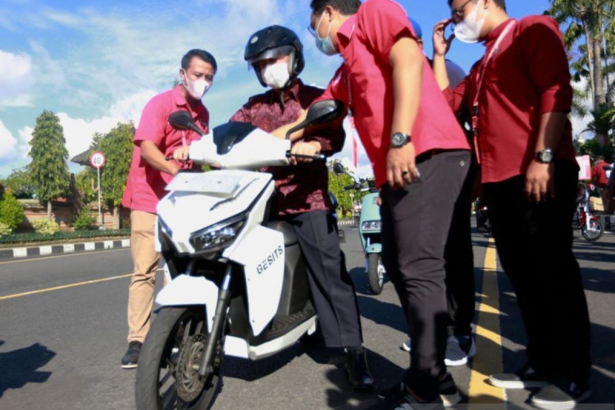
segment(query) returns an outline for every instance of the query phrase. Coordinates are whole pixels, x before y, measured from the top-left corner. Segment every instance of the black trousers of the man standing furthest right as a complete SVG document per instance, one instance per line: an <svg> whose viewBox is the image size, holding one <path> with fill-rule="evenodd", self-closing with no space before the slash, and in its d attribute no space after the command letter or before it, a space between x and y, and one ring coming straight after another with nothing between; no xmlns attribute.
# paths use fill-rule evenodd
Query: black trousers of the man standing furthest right
<svg viewBox="0 0 615 410"><path fill-rule="evenodd" d="M484 185L502 268L517 294L528 363L552 381L587 382L590 325L571 221L577 169L555 164L555 199L526 200L525 176Z"/></svg>

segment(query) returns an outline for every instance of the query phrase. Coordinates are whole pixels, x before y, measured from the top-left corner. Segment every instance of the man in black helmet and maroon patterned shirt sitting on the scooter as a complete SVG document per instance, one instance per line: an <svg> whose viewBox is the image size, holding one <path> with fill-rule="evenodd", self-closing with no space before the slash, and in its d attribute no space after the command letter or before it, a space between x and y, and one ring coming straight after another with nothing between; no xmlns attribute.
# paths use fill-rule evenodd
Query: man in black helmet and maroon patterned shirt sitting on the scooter
<svg viewBox="0 0 615 410"><path fill-rule="evenodd" d="M304 66L303 45L282 26L269 26L250 36L245 60L256 78L270 89L248 100L231 121L249 122L271 132L295 121L323 90L304 85L298 75ZM341 122L336 127L306 133L293 143L292 152L330 156L344 143ZM354 388L373 386L368 371L357 296L339 248L333 205L328 195L328 170L323 162L298 162L290 167L270 167L276 180L279 216L293 227L303 251L312 299L327 347L344 347L347 375Z"/></svg>

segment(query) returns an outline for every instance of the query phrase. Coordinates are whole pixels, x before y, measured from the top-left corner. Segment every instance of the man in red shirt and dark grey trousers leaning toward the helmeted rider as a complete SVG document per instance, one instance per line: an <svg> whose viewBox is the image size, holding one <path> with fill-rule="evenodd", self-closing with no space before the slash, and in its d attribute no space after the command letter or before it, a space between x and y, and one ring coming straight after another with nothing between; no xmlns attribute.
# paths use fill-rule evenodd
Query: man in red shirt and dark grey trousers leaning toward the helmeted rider
<svg viewBox="0 0 615 410"><path fill-rule="evenodd" d="M458 400L444 365L443 254L470 164L466 136L399 4L313 0L310 7L316 46L344 58L321 99L343 101L352 112L381 188L383 262L412 343L394 398L401 405L442 403L440 388L448 384Z"/></svg>

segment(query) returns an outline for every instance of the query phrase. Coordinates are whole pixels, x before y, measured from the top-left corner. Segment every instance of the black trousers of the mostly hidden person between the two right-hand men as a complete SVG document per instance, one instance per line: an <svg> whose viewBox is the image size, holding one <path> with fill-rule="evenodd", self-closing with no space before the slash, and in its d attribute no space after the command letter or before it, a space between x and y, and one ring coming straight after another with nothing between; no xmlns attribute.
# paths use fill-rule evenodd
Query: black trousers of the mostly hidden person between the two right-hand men
<svg viewBox="0 0 615 410"><path fill-rule="evenodd" d="M448 336L472 333L476 306L474 281L474 253L472 251L472 185L477 165L472 162L457 198L448 239L444 250L446 270L446 302L448 307Z"/></svg>

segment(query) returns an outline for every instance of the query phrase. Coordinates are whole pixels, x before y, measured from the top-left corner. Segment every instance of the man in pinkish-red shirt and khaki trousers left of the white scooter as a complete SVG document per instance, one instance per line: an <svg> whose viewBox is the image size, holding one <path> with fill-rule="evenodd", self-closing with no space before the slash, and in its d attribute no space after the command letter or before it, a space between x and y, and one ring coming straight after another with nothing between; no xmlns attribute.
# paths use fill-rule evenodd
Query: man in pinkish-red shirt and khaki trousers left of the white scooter
<svg viewBox="0 0 615 410"><path fill-rule="evenodd" d="M154 302L154 283L159 254L154 246L156 205L166 194L165 186L181 168L190 167L177 161L167 161L173 151L200 135L193 131L178 131L167 121L178 110L191 112L197 127L207 132L209 112L201 98L211 87L217 65L204 50L190 50L181 59L182 83L175 89L156 95L143 109L130 173L122 205L130 208L130 253L134 264L128 297L129 347L122 358L122 368L137 367L141 344L149 330Z"/></svg>

